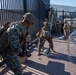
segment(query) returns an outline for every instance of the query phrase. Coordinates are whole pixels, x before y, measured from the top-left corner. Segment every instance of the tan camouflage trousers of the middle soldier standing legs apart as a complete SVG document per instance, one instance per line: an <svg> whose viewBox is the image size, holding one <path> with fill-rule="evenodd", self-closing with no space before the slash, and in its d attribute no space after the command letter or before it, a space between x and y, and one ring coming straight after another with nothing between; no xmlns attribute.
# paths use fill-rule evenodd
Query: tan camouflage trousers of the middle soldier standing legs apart
<svg viewBox="0 0 76 75"><path fill-rule="evenodd" d="M53 41L52 41L52 37L47 37L47 38L38 38L39 42L38 42L38 53L40 54L41 49L44 48L44 43L47 40L49 42L49 51L53 50Z"/></svg>

